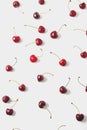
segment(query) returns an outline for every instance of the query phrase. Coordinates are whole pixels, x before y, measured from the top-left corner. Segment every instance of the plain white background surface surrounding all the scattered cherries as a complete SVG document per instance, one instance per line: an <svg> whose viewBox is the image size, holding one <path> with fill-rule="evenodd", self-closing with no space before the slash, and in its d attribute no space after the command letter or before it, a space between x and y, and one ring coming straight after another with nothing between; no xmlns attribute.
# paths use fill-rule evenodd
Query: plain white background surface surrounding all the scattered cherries
<svg viewBox="0 0 87 130"><path fill-rule="evenodd" d="M73 48L79 46L83 51L87 50L87 36L85 32L74 31L73 29L87 28L87 9L79 8L78 0L70 3L70 9L77 11L76 17L69 16L68 0L47 0L44 5L39 5L38 0L20 0L21 6L15 9L12 6L12 0L0 0L0 129L12 130L20 128L21 130L57 130L60 125L66 125L61 129L87 129L87 93L84 87L79 85L77 78L81 77L81 82L86 85L87 59L80 57L80 51ZM83 1L81 1L83 2ZM87 3L86 0L84 2ZM33 13L45 12L51 9L47 14L42 14L41 18L36 20ZM21 12L24 11L24 14ZM34 28L24 27L25 24L38 27L43 25L46 33L40 34ZM50 32L58 30L62 24L67 27L62 28L60 37L50 38ZM15 32L22 38L22 41L15 44L12 41ZM42 46L25 47L27 43L33 42L35 38L43 39ZM29 56L31 54L40 55L40 48L43 49L43 56L37 63L31 63ZM58 64L58 59L49 52L55 52L59 57L68 61L66 67ZM17 64L13 72L7 72L5 66L14 63L14 57L17 57ZM36 79L37 74L50 72L54 74L45 75L46 81L39 83ZM65 85L71 78L67 89L68 94L60 94L59 87ZM9 80L16 80L27 86L26 92L20 92L15 83L9 83ZM12 100L19 99L14 107L16 114L8 116L5 113L7 107L13 103L3 103L2 96L9 95ZM49 113L38 107L40 100L46 101L48 109L52 113L52 119L49 119ZM82 122L75 119L76 108L71 102L78 106L81 113L85 115Z"/></svg>

